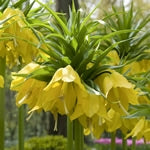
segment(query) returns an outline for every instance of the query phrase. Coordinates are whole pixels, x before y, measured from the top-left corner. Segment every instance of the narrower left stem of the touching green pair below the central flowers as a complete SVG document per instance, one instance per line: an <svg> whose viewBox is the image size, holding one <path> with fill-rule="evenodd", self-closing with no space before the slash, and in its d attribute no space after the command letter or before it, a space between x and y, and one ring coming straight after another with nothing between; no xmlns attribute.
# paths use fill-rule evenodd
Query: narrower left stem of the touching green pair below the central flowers
<svg viewBox="0 0 150 150"><path fill-rule="evenodd" d="M73 150L73 121L67 117L67 150Z"/></svg>

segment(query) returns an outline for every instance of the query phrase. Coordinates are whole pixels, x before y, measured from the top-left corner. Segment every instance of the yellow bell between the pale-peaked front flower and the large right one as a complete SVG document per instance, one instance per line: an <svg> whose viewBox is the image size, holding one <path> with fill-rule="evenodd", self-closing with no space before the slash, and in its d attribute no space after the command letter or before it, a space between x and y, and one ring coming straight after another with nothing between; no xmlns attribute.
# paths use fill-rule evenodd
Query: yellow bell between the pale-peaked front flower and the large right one
<svg viewBox="0 0 150 150"><path fill-rule="evenodd" d="M101 117L106 116L105 101L102 96L79 88L76 88L76 93L77 105L71 115L71 120L77 119L83 114L89 118L95 114L99 114Z"/></svg>

